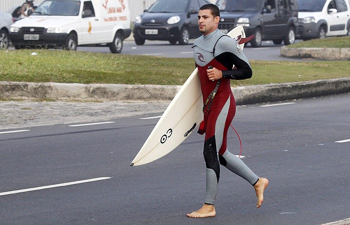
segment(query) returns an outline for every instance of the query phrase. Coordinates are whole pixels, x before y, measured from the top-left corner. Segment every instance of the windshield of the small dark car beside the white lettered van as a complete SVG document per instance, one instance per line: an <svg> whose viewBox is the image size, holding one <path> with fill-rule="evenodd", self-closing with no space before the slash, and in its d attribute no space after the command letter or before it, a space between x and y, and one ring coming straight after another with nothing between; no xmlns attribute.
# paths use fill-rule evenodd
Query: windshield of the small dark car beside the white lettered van
<svg viewBox="0 0 350 225"><path fill-rule="evenodd" d="M148 12L184 12L188 0L157 0L148 9Z"/></svg>

